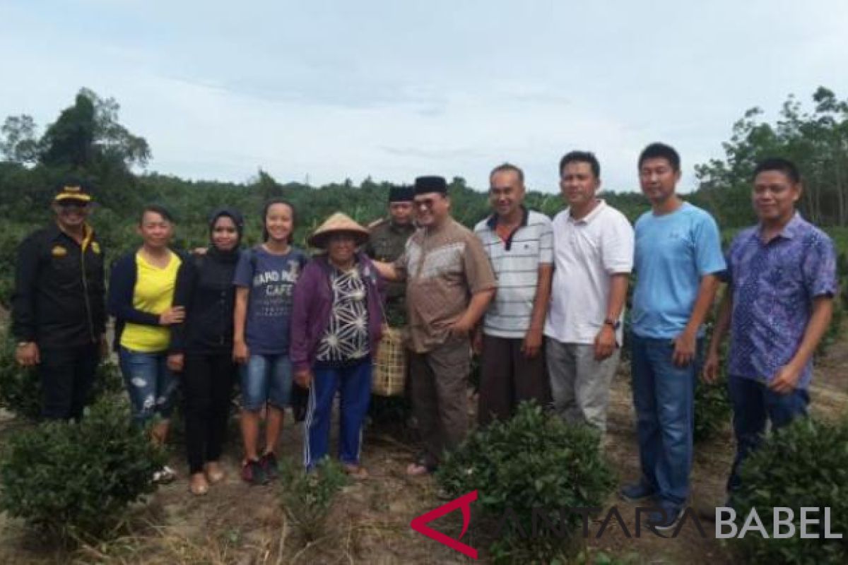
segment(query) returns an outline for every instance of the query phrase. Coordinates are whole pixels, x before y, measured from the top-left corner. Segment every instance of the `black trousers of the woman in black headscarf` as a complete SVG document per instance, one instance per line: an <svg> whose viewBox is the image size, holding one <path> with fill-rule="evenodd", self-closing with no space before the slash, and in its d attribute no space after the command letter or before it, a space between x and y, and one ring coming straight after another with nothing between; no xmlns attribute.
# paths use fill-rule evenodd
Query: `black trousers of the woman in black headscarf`
<svg viewBox="0 0 848 565"><path fill-rule="evenodd" d="M204 463L220 459L235 375L231 352L186 354L182 398L189 473L200 473Z"/></svg>

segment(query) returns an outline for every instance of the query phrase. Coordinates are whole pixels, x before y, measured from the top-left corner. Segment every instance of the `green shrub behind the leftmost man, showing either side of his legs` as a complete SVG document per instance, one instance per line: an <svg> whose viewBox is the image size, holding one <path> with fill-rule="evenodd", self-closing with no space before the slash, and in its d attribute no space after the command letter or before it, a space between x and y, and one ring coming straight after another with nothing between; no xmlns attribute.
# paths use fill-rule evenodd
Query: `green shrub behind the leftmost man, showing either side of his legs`
<svg viewBox="0 0 848 565"><path fill-rule="evenodd" d="M101 363L89 402L124 390L118 367ZM14 360L14 340L0 339L0 407L20 417L37 420L42 413L42 382L35 368L20 367Z"/></svg>

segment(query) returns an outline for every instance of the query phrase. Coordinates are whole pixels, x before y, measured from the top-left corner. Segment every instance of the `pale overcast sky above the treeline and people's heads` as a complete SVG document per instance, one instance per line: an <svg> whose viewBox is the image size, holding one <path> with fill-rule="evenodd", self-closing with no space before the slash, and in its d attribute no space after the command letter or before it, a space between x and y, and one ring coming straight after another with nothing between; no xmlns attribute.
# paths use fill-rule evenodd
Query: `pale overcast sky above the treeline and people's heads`
<svg viewBox="0 0 848 565"><path fill-rule="evenodd" d="M148 170L313 185L510 161L553 191L564 152L637 190L650 141L693 166L745 109L848 97L848 2L0 0L0 119L120 102Z"/></svg>

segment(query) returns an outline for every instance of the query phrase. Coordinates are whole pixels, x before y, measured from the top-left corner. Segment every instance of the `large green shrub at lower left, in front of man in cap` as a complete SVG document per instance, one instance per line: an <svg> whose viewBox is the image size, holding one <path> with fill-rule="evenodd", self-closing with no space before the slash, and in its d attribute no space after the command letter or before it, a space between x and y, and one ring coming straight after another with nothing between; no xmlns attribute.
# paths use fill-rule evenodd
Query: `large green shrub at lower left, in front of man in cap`
<svg viewBox="0 0 848 565"><path fill-rule="evenodd" d="M123 403L96 403L81 422L44 422L11 435L0 462L0 510L62 540L97 540L153 492L165 454Z"/></svg>

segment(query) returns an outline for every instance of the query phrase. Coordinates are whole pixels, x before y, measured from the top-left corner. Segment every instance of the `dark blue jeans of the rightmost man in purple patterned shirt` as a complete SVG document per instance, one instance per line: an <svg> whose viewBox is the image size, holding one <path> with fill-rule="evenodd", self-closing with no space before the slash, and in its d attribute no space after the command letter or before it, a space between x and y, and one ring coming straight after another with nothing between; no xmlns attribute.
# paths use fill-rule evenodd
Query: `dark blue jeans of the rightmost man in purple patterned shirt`
<svg viewBox="0 0 848 565"><path fill-rule="evenodd" d="M806 416L810 395L795 389L786 395L769 391L766 385L754 379L730 376L728 379L730 403L734 409L734 435L736 457L728 479L728 491L739 489L739 467L751 451L756 450L766 431L766 419L772 429L782 428L798 417Z"/></svg>

